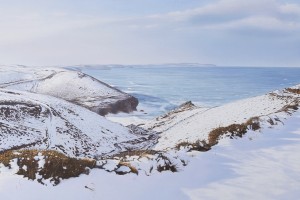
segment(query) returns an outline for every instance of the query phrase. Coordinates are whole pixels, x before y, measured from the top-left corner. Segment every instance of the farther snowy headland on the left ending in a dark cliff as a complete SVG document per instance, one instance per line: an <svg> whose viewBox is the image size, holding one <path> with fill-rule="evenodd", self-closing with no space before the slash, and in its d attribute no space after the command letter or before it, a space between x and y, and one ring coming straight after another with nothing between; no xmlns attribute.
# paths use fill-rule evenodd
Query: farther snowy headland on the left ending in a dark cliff
<svg viewBox="0 0 300 200"><path fill-rule="evenodd" d="M136 98L78 71L62 68L0 66L0 88L58 97L98 114L131 112Z"/></svg>

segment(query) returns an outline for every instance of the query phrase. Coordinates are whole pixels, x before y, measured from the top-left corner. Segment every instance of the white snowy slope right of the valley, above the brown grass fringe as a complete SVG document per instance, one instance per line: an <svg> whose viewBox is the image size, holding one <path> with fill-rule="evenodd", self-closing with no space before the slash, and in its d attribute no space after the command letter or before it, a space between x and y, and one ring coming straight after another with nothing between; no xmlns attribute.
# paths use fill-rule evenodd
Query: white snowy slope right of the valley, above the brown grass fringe
<svg viewBox="0 0 300 200"><path fill-rule="evenodd" d="M300 85L294 87L299 89ZM183 106L157 117L141 127L161 132L155 150L173 148L181 142L208 140L209 133L219 127L242 124L253 117L266 117L284 109L297 107L300 94L276 91L266 95L232 102L214 108Z"/></svg>

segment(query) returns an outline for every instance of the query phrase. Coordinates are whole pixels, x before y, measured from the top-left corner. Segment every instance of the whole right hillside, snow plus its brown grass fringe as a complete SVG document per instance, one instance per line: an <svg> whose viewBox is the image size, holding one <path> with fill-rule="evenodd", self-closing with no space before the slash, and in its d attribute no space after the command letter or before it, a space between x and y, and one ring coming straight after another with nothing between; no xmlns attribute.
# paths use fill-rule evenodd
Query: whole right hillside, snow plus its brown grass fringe
<svg viewBox="0 0 300 200"><path fill-rule="evenodd" d="M296 85L211 108L187 102L152 120L131 121L141 129L159 133L158 143L153 147L158 151L184 143L214 146L219 136L231 134L232 137L241 137L248 129L259 130L260 124L281 123L282 115L297 110L299 101L300 85ZM124 125L130 124L130 119L110 119Z"/></svg>

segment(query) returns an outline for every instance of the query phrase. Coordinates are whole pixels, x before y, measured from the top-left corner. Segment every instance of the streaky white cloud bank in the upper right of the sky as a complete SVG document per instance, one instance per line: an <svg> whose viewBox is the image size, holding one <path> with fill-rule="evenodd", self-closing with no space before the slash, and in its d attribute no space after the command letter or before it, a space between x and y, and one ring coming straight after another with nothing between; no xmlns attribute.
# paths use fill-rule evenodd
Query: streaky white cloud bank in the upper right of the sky
<svg viewBox="0 0 300 200"><path fill-rule="evenodd" d="M161 25L184 28L293 31L300 28L300 5L275 0L220 0L202 7L149 16Z"/></svg>

